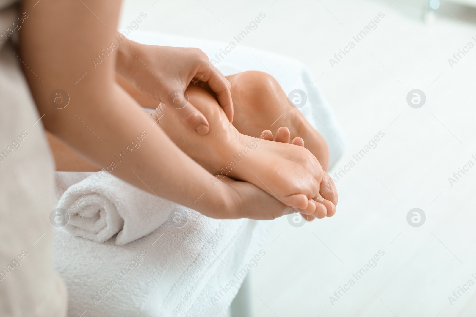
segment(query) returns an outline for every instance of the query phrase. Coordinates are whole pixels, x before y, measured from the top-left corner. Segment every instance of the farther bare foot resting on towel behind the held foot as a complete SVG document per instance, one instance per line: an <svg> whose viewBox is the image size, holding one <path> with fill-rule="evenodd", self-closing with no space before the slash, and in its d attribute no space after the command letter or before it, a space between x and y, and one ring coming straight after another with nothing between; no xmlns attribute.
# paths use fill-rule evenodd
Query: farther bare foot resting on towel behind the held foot
<svg viewBox="0 0 476 317"><path fill-rule="evenodd" d="M257 135L263 130L270 130L277 135L278 128L286 126L290 138L300 136L327 172L329 150L326 141L298 109L290 106L288 96L276 79L259 71L247 71L227 79L231 84L235 108L233 125L240 133Z"/></svg>

